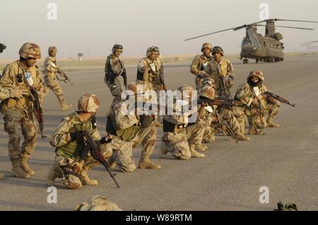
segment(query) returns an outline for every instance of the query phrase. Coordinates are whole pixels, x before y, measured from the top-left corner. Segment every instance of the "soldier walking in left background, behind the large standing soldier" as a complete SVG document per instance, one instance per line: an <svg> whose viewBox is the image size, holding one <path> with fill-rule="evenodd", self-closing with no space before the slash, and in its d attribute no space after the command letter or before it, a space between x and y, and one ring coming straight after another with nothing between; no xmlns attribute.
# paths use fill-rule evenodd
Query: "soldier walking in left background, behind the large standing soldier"
<svg viewBox="0 0 318 225"><path fill-rule="evenodd" d="M45 75L45 85L48 87L46 91L51 89L57 96L59 104L61 104L62 111L67 111L72 107L72 105L65 104L63 91L61 90L59 82L57 82L57 73L60 75L64 75L64 72L61 71L61 68L57 66L57 60L55 59L55 57L57 56L57 47L49 47L48 52L49 56L47 56L47 58L45 59L43 69L43 73Z"/></svg>

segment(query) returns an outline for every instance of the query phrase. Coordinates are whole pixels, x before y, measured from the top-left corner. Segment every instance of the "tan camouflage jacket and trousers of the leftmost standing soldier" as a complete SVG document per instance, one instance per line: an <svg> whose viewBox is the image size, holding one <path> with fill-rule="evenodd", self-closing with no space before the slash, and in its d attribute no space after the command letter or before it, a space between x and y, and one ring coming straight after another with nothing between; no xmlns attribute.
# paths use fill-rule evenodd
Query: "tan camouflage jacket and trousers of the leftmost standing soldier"
<svg viewBox="0 0 318 225"><path fill-rule="evenodd" d="M4 88L29 89L23 73L25 70L15 61L6 68L0 78L0 85ZM27 70L31 73L33 87L37 90L40 101L42 101L43 85L40 73L36 66ZM8 152L11 161L28 159L37 144L37 122L34 113L34 105L30 95L22 99L12 97L1 102L1 113L4 114L4 130L8 133ZM22 132L24 141L20 148L20 134Z"/></svg>

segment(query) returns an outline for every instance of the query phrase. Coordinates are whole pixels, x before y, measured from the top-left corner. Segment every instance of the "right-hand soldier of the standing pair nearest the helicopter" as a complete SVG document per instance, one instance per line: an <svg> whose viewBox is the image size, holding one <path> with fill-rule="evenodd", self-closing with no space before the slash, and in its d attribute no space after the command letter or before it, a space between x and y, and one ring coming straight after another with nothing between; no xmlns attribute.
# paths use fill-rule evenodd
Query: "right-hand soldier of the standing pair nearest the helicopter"
<svg viewBox="0 0 318 225"><path fill-rule="evenodd" d="M204 72L210 75L216 83L216 92L220 97L230 98L230 88L233 86L234 71L232 63L225 59L221 47L213 47L213 60L208 62Z"/></svg>

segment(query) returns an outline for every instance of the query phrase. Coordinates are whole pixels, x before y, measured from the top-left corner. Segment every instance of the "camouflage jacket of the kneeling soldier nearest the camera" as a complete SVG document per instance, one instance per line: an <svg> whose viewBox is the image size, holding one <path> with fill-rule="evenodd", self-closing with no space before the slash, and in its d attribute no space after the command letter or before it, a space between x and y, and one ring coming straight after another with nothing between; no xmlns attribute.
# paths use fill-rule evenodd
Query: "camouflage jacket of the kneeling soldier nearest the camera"
<svg viewBox="0 0 318 225"><path fill-rule="evenodd" d="M55 152L57 155L66 158L79 158L78 143L76 140L71 140L70 135L70 133L76 130L89 130L94 140L98 141L101 139L100 133L98 133L97 128L93 125L93 118L82 122L78 118L78 114L74 112L66 116L57 127L57 130L52 134L50 143L53 147L56 147Z"/></svg>

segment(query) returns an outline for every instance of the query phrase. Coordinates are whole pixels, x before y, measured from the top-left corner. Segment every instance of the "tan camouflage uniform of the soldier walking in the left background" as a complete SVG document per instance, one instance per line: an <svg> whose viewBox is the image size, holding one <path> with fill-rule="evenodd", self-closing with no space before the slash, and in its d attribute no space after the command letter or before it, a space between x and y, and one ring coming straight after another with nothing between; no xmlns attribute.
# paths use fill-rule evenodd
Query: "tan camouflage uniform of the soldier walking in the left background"
<svg viewBox="0 0 318 225"><path fill-rule="evenodd" d="M61 106L65 105L65 99L63 95L63 91L61 90L61 86L57 81L57 71L59 68L57 67L57 61L53 56L47 56L44 62L43 74L45 75L45 85L51 89L54 94L57 96L59 104ZM48 90L49 90L48 89ZM46 92L48 92L46 90Z"/></svg>

